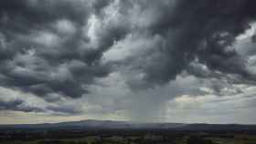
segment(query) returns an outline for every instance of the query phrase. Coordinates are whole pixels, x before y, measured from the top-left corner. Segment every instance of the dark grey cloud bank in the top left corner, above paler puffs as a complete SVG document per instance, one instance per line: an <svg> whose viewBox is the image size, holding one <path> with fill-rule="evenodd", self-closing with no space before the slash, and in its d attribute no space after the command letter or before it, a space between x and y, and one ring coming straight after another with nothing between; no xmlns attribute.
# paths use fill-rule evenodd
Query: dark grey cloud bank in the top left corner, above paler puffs
<svg viewBox="0 0 256 144"><path fill-rule="evenodd" d="M91 7L86 3L80 1L73 3L69 0L4 0L0 2L0 5L1 15L4 16L2 20L5 20L5 16L8 16L8 18L17 22L16 24L9 23L14 26L9 28L16 28L14 30L26 30L27 26L25 25L27 23L29 23L29 26L45 25L45 23L56 20L59 17L67 17L74 22L83 23L84 19L82 17L88 16L91 11ZM4 22L2 21L2 23ZM22 28L22 26L25 27Z"/></svg>

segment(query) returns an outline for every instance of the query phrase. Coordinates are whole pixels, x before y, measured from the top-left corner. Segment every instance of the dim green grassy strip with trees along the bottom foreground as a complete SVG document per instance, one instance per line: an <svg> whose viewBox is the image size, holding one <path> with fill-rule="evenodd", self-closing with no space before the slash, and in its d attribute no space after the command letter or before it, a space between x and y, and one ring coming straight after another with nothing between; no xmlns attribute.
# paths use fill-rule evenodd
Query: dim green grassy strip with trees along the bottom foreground
<svg viewBox="0 0 256 144"><path fill-rule="evenodd" d="M199 138L199 137L198 137ZM80 139L37 139L37 140L8 140L1 144L256 144L255 136L235 135L234 138L199 138L203 141L191 142L190 137L185 136L179 139L163 139L161 136L155 137L119 137L109 138L85 137Z"/></svg>

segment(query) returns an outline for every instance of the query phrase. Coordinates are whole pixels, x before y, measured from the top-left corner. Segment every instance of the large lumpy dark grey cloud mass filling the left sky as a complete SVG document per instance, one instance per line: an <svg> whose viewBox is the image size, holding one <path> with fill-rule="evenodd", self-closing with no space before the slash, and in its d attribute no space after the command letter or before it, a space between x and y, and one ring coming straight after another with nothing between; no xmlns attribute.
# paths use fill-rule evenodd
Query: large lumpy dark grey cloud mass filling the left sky
<svg viewBox="0 0 256 144"><path fill-rule="evenodd" d="M43 97L58 93L80 98L88 93L86 85L93 83L95 77L106 77L111 70L108 65L100 64L102 53L127 31L122 26L105 26L97 46L82 45L91 43L90 37L83 36L90 16L109 4L107 1L1 1L1 86ZM75 29L75 34L59 34L53 27L58 22L68 32Z"/></svg>

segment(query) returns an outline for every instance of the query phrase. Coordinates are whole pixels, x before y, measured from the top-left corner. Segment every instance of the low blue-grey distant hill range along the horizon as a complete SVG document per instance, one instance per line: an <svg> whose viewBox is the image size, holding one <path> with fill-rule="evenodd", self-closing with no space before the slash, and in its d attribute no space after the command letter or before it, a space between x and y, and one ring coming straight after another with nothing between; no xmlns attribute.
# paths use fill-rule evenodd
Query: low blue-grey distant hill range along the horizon
<svg viewBox="0 0 256 144"><path fill-rule="evenodd" d="M256 131L256 125L139 123L112 120L81 120L54 124L0 125L0 129L170 129L180 131Z"/></svg>

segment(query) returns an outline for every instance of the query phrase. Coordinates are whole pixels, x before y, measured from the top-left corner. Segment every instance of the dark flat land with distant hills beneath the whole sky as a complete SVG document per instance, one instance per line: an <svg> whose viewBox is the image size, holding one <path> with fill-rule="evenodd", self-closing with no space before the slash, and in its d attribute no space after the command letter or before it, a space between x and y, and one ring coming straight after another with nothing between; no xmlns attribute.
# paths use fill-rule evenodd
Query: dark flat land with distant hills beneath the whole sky
<svg viewBox="0 0 256 144"><path fill-rule="evenodd" d="M256 126L84 120L0 127L1 144L255 144Z"/></svg>

